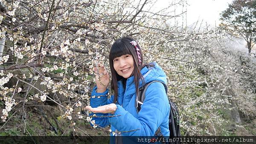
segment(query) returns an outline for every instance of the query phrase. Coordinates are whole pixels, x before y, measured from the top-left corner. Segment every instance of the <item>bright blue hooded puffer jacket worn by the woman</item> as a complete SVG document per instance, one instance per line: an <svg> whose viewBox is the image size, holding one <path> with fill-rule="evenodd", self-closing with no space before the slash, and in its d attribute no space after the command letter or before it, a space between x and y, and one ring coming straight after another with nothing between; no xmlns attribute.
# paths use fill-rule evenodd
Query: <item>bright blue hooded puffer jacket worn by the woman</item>
<svg viewBox="0 0 256 144"><path fill-rule="evenodd" d="M141 69L141 73L144 77L145 83L149 83L154 80L163 81L166 84L166 74L163 69L153 63L154 67L147 68L146 66ZM140 82L140 86L142 86ZM94 87L92 96L95 98L90 99L91 107L99 107L106 104L113 103L114 96L108 99L108 89L103 93L96 92L97 87ZM111 124L111 136L113 132L118 131L130 131L122 132L123 136L154 136L155 131L160 127L164 136L169 136L169 112L170 105L166 96L165 88L160 82L152 83L148 86L145 93L145 100L141 106L140 112L137 113L135 107L136 101L136 88L134 84L134 76L131 76L126 81L126 88L123 89L122 81L118 81L118 98L117 109L114 114L96 113L96 115L120 115L115 117L93 117L95 123L100 127L106 127ZM91 113L90 115L93 115ZM139 129L139 130L137 130ZM135 130L135 131L132 131ZM111 144L113 138L111 138Z"/></svg>

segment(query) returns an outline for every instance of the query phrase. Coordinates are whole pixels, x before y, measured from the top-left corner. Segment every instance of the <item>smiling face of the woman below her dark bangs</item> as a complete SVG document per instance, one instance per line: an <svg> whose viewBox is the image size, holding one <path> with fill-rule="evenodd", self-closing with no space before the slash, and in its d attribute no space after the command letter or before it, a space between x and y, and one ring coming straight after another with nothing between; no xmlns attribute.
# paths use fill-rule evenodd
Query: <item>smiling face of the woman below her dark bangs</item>
<svg viewBox="0 0 256 144"><path fill-rule="evenodd" d="M129 78L134 70L132 55L122 55L113 59L113 66L118 75Z"/></svg>

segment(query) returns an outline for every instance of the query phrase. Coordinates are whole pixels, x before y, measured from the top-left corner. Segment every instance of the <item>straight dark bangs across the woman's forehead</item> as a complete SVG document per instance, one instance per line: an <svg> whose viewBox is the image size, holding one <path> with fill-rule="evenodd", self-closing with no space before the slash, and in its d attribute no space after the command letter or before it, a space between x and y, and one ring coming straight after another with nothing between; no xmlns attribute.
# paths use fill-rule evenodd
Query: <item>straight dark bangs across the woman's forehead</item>
<svg viewBox="0 0 256 144"><path fill-rule="evenodd" d="M131 46L126 45L122 41L113 43L109 52L109 60L113 61L114 58L120 57L122 55L131 55L131 52L129 50L129 47Z"/></svg>

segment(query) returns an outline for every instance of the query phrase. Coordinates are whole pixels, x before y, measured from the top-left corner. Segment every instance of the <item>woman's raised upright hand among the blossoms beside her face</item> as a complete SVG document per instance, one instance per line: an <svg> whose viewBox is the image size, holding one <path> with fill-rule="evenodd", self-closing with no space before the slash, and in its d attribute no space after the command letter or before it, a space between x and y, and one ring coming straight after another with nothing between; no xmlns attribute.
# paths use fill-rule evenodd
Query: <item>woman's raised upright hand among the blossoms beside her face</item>
<svg viewBox="0 0 256 144"><path fill-rule="evenodd" d="M93 68L95 75L96 75L96 86L97 92L102 93L105 92L108 88L109 80L109 73L105 69L103 64L98 64L98 67Z"/></svg>

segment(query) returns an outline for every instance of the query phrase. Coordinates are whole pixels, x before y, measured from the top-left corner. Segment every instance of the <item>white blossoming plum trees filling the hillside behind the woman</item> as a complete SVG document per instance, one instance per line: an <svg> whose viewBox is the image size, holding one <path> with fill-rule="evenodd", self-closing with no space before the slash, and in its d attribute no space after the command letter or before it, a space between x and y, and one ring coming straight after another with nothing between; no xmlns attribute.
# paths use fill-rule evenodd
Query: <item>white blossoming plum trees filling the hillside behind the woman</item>
<svg viewBox="0 0 256 144"><path fill-rule="evenodd" d="M166 72L182 135L230 134L226 127L233 120L224 118L226 110L255 120L255 59L230 50L230 31L200 22L193 28L174 25L186 13L175 9L186 0L170 0L160 10L154 4L0 0L0 131L16 128L16 120L19 135L38 135L31 121L41 115L53 127L45 135L87 135L81 125L94 124L84 109L97 98L90 96L93 66L109 69L110 47L124 36L134 37L145 61L156 61ZM241 118L235 125L244 128Z"/></svg>

